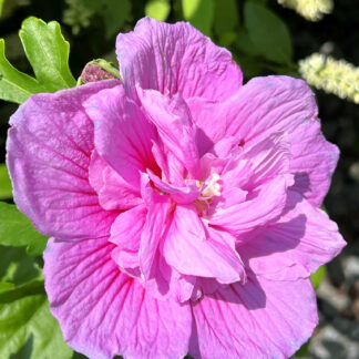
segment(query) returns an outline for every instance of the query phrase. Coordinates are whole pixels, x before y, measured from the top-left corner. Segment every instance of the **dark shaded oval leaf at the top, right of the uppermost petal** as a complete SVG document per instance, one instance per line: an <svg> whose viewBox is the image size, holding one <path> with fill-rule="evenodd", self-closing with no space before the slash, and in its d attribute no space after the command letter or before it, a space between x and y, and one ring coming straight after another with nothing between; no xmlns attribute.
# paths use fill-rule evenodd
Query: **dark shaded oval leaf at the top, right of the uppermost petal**
<svg viewBox="0 0 359 359"><path fill-rule="evenodd" d="M277 63L290 63L293 45L285 22L273 11L259 3L245 3L245 24L248 37L267 60Z"/></svg>

